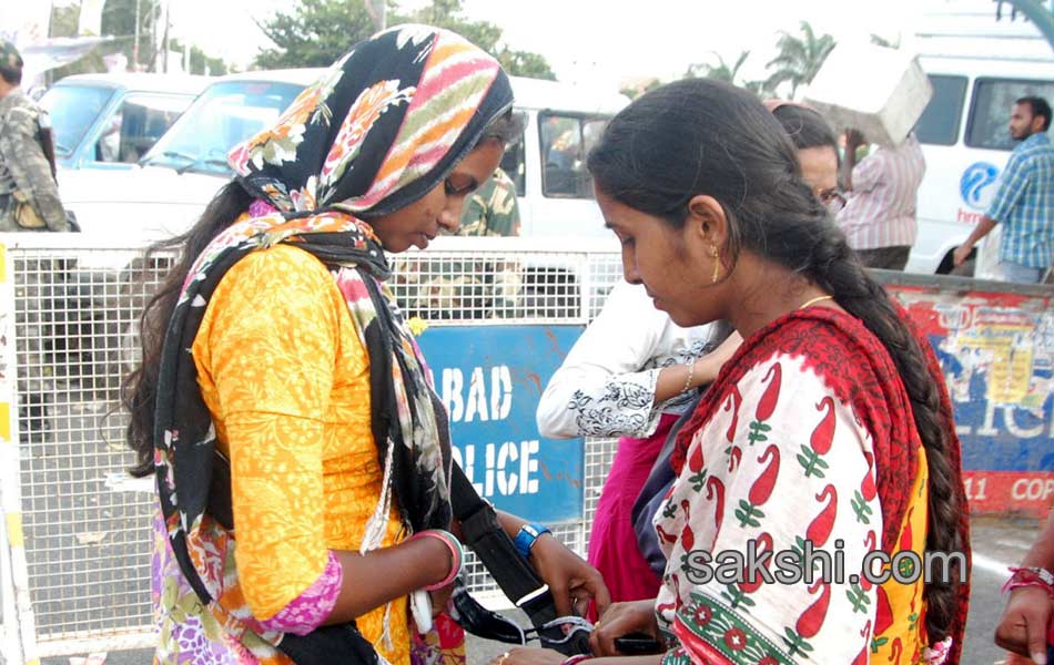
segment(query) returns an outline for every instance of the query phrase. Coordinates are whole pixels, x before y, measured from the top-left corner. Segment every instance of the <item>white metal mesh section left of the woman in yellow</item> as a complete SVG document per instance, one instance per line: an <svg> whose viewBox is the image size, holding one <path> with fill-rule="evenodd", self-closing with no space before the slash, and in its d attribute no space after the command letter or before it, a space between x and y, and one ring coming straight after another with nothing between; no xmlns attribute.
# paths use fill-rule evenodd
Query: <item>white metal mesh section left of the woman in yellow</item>
<svg viewBox="0 0 1054 665"><path fill-rule="evenodd" d="M112 491L107 480L133 462L118 409L120 377L134 359L136 313L161 272L134 274L142 260L131 252L26 249L11 258L22 519L38 641L149 631L152 499Z"/></svg>

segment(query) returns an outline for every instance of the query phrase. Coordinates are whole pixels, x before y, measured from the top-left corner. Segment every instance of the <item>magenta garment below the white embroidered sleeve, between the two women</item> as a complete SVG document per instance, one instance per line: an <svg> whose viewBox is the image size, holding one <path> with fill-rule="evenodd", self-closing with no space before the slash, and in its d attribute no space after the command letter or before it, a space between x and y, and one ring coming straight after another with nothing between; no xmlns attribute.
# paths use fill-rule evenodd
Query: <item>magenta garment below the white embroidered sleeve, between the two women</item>
<svg viewBox="0 0 1054 665"><path fill-rule="evenodd" d="M611 471L604 483L589 534L589 563L608 585L615 602L653 598L659 577L637 548L634 532L634 502L666 441L677 416L663 413L647 439L619 439Z"/></svg>

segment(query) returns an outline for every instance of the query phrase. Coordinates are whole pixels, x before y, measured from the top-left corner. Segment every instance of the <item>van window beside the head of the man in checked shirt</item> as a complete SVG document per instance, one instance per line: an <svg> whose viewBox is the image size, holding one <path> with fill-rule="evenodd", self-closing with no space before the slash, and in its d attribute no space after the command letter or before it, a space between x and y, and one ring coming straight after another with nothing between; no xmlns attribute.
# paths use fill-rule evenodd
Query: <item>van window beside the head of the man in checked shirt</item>
<svg viewBox="0 0 1054 665"><path fill-rule="evenodd" d="M990 150L1013 150L1006 129L1014 101L1023 96L1054 98L1054 81L977 79L973 88L966 145Z"/></svg>

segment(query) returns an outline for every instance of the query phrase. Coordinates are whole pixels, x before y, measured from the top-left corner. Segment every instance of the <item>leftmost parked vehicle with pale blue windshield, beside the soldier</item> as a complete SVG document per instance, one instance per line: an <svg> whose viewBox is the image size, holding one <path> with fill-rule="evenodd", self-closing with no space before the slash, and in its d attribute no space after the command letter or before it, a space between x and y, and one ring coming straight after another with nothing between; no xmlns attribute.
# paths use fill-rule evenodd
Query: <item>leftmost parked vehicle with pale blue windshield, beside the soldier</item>
<svg viewBox="0 0 1054 665"><path fill-rule="evenodd" d="M190 106L207 76L79 74L40 99L62 168L131 168Z"/></svg>

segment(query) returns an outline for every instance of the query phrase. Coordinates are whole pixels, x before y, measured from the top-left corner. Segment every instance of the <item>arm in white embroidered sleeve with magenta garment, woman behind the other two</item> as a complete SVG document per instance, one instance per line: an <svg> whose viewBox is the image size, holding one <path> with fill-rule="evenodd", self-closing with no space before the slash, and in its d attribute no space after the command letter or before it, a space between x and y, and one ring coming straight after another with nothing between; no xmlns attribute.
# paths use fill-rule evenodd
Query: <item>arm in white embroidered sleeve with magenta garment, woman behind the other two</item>
<svg viewBox="0 0 1054 665"><path fill-rule="evenodd" d="M738 336L718 325L681 328L642 286L620 282L538 405L543 436L621 437L589 536L589 563L615 602L655 597L659 579L637 549L631 511L670 426L695 390L717 376Z"/></svg>

